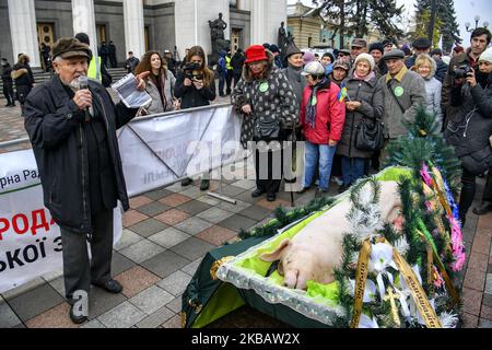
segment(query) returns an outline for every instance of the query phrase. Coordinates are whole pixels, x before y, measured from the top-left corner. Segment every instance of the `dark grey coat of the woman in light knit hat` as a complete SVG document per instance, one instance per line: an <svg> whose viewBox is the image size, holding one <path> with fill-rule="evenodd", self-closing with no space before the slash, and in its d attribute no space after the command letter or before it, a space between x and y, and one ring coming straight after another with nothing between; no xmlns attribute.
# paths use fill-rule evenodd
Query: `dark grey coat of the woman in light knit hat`
<svg viewBox="0 0 492 350"><path fill-rule="evenodd" d="M345 88L351 101L359 101L362 105L354 112L345 110L345 122L342 137L337 145L337 154L349 158L371 158L372 152L359 150L355 147L355 132L362 120L380 120L383 118L384 93L383 86L374 77L368 81L353 77L353 71L345 79ZM344 101L349 101L345 98Z"/></svg>

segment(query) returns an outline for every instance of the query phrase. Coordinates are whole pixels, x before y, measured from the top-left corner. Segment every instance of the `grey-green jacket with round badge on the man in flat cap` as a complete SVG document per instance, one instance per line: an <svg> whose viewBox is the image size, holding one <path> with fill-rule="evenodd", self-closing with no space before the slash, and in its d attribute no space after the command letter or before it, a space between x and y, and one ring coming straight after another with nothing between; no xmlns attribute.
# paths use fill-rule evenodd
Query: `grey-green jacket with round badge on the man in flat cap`
<svg viewBox="0 0 492 350"><path fill-rule="evenodd" d="M415 120L417 109L420 105L425 105L425 82L418 73L409 71L403 67L395 77L391 83L391 75L387 73L379 78L385 95L385 108L383 122L385 125L385 138L396 139L407 133L406 122ZM391 90L390 90L391 89ZM397 97L393 93L401 91L402 95ZM393 91L393 92L391 92ZM403 108L401 110L397 98Z"/></svg>

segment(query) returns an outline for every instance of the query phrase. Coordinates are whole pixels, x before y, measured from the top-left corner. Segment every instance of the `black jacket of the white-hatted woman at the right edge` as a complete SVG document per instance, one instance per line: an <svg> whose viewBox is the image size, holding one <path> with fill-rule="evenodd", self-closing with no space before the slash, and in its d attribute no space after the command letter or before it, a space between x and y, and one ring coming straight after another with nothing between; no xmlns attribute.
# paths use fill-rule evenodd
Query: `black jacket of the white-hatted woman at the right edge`
<svg viewBox="0 0 492 350"><path fill-rule="evenodd" d="M469 84L453 88L450 103L458 113L449 119L444 136L447 142L455 147L456 156L461 158L478 151L490 154L492 73L483 85L478 83L475 88Z"/></svg>

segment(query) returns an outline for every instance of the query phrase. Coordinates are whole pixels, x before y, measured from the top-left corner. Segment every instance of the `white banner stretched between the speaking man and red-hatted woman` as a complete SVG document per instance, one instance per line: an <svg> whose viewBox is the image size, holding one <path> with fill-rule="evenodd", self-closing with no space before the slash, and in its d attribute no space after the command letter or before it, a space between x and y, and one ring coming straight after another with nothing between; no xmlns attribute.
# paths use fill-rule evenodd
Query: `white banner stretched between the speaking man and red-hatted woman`
<svg viewBox="0 0 492 350"><path fill-rule="evenodd" d="M235 160L239 135L241 121L231 105L133 119L118 136L128 195Z"/></svg>

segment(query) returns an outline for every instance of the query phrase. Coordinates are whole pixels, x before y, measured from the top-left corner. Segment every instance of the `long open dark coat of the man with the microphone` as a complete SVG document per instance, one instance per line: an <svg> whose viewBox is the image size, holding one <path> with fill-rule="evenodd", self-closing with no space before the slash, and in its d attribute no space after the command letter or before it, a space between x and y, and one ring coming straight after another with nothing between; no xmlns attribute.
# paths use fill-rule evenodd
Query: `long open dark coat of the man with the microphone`
<svg viewBox="0 0 492 350"><path fill-rule="evenodd" d="M128 210L116 129L130 121L138 109L129 109L122 103L115 105L97 82L90 80L89 88L103 107L117 197L124 210ZM59 225L90 233L87 142L83 137L83 112L70 100L58 77L35 86L25 103L25 129L39 170L45 206Z"/></svg>

